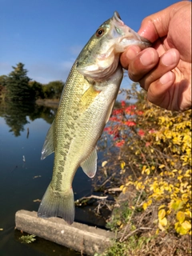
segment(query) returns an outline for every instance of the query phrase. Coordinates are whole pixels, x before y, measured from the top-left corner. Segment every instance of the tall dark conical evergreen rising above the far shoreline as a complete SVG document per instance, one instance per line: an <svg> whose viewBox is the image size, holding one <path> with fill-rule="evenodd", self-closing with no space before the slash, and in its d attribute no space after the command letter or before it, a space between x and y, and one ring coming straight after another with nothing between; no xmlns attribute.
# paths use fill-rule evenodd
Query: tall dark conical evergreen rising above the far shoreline
<svg viewBox="0 0 192 256"><path fill-rule="evenodd" d="M26 75L28 70L24 69L24 64L19 62L13 69L6 78L6 98L17 102L34 100L29 86L30 78Z"/></svg>

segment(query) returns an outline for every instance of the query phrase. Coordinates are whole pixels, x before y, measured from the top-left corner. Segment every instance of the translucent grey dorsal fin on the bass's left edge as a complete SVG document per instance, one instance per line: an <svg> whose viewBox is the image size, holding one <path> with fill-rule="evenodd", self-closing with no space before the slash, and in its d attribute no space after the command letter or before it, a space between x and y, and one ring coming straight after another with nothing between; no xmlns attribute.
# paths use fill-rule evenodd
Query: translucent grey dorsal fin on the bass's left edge
<svg viewBox="0 0 192 256"><path fill-rule="evenodd" d="M42 157L41 159L45 159L48 155L54 152L54 122L50 126L50 130L48 130L46 134L46 140L42 146Z"/></svg>

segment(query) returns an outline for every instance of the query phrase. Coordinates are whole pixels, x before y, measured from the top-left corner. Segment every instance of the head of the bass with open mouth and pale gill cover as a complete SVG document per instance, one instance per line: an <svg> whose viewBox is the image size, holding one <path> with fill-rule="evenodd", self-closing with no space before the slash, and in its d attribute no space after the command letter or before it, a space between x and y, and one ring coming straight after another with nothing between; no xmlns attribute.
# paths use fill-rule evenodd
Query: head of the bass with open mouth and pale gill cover
<svg viewBox="0 0 192 256"><path fill-rule="evenodd" d="M126 50L126 47L138 45L143 50L151 46L150 41L126 26L117 11L99 27L99 30L102 36L97 33L93 35L94 50L92 51L92 46L90 47L88 42L86 50L78 56L77 70L87 78L108 79L117 70L120 54ZM87 54L89 47L90 54Z"/></svg>

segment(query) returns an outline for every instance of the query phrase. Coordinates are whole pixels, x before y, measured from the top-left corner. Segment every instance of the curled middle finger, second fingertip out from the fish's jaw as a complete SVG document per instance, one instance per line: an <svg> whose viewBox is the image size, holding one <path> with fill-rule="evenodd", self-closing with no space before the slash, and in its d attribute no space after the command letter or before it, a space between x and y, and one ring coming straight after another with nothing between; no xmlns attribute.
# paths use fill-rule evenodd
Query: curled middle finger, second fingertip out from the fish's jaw
<svg viewBox="0 0 192 256"><path fill-rule="evenodd" d="M147 48L138 53L132 62L130 62L128 74L131 80L138 82L151 69L158 64L158 52L153 48Z"/></svg>

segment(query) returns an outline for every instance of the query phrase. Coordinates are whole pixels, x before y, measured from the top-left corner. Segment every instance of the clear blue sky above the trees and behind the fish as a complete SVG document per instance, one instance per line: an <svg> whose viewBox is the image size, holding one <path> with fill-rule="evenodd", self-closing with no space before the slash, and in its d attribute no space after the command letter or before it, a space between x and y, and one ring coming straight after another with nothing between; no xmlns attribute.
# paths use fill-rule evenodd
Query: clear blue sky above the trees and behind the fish
<svg viewBox="0 0 192 256"><path fill-rule="evenodd" d="M142 19L171 0L0 0L0 75L18 62L38 82L66 81L70 67L114 10L138 31Z"/></svg>

